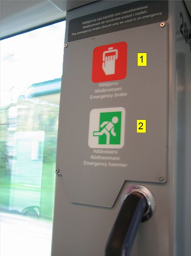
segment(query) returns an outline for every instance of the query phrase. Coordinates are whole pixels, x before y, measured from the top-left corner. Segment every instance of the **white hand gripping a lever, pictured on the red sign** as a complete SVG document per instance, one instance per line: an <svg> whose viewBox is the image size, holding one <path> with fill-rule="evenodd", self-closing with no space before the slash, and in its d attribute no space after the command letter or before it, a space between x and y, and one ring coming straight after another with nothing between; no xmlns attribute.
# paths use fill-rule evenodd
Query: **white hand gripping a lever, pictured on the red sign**
<svg viewBox="0 0 191 256"><path fill-rule="evenodd" d="M108 50L103 52L102 69L105 75L115 74L115 61L118 58L118 50L114 47L109 47Z"/></svg>

